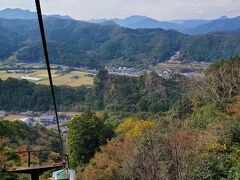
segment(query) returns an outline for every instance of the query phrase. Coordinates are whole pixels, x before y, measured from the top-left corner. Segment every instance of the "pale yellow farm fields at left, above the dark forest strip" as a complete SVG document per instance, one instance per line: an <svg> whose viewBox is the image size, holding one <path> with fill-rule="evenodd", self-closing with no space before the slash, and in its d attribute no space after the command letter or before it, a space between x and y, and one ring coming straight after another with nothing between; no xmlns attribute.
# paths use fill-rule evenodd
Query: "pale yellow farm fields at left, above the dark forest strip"
<svg viewBox="0 0 240 180"><path fill-rule="evenodd" d="M93 77L87 77L89 74L86 71L72 71L70 73L66 73L63 75L56 74L57 70L52 70L53 83L56 86L60 85L68 85L72 87L77 87L81 85L91 86L93 84ZM34 70L32 73L23 74L23 73L7 73L6 71L0 71L0 79L6 80L8 78L17 78L20 79L22 77L30 77L30 78L40 78L39 81L29 80L36 84L44 84L49 85L48 74L46 70Z"/></svg>

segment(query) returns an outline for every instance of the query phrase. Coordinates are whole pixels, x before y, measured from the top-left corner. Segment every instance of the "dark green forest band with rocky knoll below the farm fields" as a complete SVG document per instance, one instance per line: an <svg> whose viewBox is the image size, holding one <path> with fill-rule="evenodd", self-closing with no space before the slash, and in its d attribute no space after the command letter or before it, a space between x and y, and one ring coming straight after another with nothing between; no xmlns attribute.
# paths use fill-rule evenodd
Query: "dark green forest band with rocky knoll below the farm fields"
<svg viewBox="0 0 240 180"><path fill-rule="evenodd" d="M109 75L100 70L93 87L55 86L61 111L109 110L113 112L164 112L186 91L187 80L166 80L155 73L140 77ZM0 80L0 109L7 111L52 110L49 86L26 80Z"/></svg>

